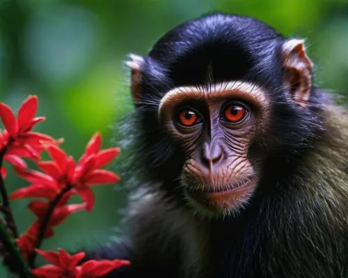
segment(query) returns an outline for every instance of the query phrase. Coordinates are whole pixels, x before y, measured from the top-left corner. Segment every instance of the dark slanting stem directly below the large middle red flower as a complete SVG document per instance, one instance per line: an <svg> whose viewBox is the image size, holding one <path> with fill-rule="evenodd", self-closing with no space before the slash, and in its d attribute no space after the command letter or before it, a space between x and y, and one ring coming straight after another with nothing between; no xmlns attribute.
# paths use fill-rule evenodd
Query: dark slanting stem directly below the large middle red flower
<svg viewBox="0 0 348 278"><path fill-rule="evenodd" d="M45 231L49 224L49 220L51 219L52 213L54 212L54 208L56 208L57 203L61 200L63 195L71 189L72 187L70 185L66 186L59 194L57 194L57 196L52 201L49 201L49 207L47 209L47 212L45 213L45 216L42 218L42 221L40 223L38 238L36 239L34 246L35 249L40 249L42 240L44 239ZM31 268L34 268L36 255L37 253L35 251L29 255L28 263Z"/></svg>

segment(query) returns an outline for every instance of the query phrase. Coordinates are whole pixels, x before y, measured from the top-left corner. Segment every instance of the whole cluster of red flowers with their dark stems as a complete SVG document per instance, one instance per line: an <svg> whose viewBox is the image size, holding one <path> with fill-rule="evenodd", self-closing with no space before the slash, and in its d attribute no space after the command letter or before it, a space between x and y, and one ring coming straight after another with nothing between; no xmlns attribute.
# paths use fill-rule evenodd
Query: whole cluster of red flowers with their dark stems
<svg viewBox="0 0 348 278"><path fill-rule="evenodd" d="M118 183L120 178L116 173L102 168L118 155L120 149L102 150L102 136L96 132L76 162L60 147L63 139L56 140L47 134L32 131L34 125L45 120L45 117L35 117L37 109L38 98L34 95L22 103L17 118L8 105L0 102L0 117L4 127L0 130L0 208L5 214L5 223L0 223L0 238L6 239L1 242L1 248L7 248L7 256L19 250L20 254L13 258L20 269L18 273L25 273L26 268L31 268L29 271L36 277L100 277L121 265L129 264L122 260L102 260L86 261L79 265L86 256L84 252L70 256L63 249L59 249L59 252L40 250L42 240L51 238L54 227L69 215L79 210L93 210L95 196L92 186ZM51 160L42 161L42 151L46 151ZM40 171L29 169L25 158L36 162ZM15 173L29 182L28 186L15 190L10 196L7 196L4 186L6 169L2 166L3 161L12 164ZM81 196L82 203L70 203L70 197L75 194ZM22 235L17 235L9 200L25 198L33 199L28 208L36 219ZM8 228L3 229L5 226ZM6 235L3 234L6 232ZM8 238L12 238L12 241ZM34 268L36 254L52 265ZM14 269L13 265L10 269Z"/></svg>

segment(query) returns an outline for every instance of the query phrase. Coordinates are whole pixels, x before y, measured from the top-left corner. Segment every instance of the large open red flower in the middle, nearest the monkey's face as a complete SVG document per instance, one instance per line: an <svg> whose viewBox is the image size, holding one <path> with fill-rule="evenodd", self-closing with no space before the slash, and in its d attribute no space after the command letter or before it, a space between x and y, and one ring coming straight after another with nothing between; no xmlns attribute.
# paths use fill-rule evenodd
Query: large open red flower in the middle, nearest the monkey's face
<svg viewBox="0 0 348 278"><path fill-rule="evenodd" d="M86 202L86 210L90 212L95 203L90 186L117 183L120 180L115 173L99 169L109 164L120 152L119 148L100 150L101 142L101 135L97 132L88 142L85 153L77 164L73 157L58 146L47 146L52 161L38 163L38 167L45 173L15 167L16 173L32 184L13 192L10 199L43 197L52 200L68 186L72 187L72 192L81 196Z"/></svg>

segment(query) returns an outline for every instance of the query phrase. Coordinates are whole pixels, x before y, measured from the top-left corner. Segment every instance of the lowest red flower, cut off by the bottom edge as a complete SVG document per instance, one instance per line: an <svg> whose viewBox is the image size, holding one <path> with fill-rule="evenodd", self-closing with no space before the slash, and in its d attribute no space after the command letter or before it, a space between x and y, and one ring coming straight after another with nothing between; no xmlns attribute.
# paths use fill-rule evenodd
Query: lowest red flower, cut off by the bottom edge
<svg viewBox="0 0 348 278"><path fill-rule="evenodd" d="M129 265L129 261L124 260L102 260L86 261L77 265L86 253L80 252L70 256L65 250L59 252L35 250L52 265L43 265L40 268L31 270L33 275L39 278L92 278L106 275L107 273L119 268L122 265Z"/></svg>

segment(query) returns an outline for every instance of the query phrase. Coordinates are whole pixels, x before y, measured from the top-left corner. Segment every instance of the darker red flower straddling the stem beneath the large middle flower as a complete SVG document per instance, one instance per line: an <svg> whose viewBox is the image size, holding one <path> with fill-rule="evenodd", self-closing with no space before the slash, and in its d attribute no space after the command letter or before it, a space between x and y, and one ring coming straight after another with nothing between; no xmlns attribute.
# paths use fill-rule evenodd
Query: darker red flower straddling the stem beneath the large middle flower
<svg viewBox="0 0 348 278"><path fill-rule="evenodd" d="M52 229L53 226L58 226L72 213L86 208L85 203L67 205L72 194L73 192L67 192L63 195L61 200L58 201L52 215L49 218L43 238L51 238L54 235L54 230ZM29 210L31 210L31 212L38 217L38 219L36 219L35 222L31 224L29 229L17 239L17 245L19 249L22 250L25 258L28 258L29 254L34 251L40 226L42 224L42 219L47 213L49 203L45 201L31 201L28 207Z"/></svg>

